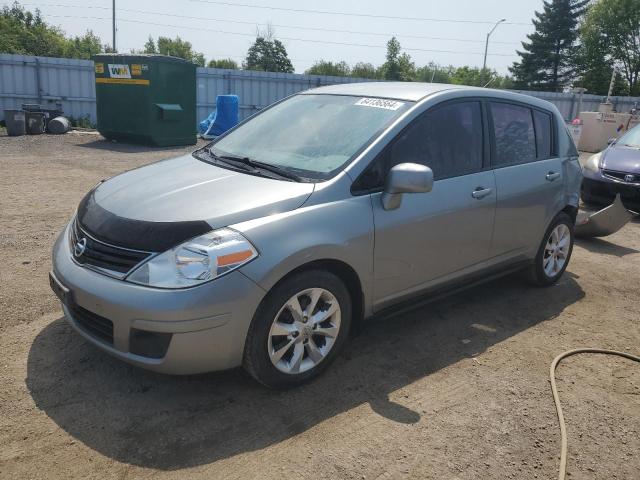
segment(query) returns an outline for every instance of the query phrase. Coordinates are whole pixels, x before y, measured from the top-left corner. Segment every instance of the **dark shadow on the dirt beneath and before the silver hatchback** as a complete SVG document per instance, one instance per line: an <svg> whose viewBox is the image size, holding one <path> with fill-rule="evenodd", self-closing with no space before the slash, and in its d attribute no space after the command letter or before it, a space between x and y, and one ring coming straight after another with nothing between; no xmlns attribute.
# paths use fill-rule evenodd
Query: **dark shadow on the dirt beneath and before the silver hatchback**
<svg viewBox="0 0 640 480"><path fill-rule="evenodd" d="M265 448L364 403L393 421L417 422L420 413L391 402L391 393L552 321L583 297L575 276L546 290L505 277L372 321L324 375L285 392L241 370L171 377L137 369L58 319L33 342L26 384L37 407L90 448L177 470Z"/></svg>

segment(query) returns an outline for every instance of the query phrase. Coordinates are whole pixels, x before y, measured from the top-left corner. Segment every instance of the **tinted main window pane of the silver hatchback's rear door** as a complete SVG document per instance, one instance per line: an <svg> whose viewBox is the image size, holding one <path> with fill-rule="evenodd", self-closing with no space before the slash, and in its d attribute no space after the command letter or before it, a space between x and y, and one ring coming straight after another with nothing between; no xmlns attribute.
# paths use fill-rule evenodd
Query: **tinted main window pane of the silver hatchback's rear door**
<svg viewBox="0 0 640 480"><path fill-rule="evenodd" d="M496 140L496 167L536 159L536 138L531 109L508 103L492 103Z"/></svg>

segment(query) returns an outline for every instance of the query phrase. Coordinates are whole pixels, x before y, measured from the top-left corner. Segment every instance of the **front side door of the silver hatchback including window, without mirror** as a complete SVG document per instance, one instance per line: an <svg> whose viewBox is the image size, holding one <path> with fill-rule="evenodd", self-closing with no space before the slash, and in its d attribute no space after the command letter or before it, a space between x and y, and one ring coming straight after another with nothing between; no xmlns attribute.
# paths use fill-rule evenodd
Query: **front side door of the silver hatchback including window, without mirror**
<svg viewBox="0 0 640 480"><path fill-rule="evenodd" d="M421 163L433 170L435 181L429 193L404 194L395 210L383 208L381 192L372 194L374 310L488 259L497 197L482 108L478 100L437 105L376 159L384 173L399 163Z"/></svg>

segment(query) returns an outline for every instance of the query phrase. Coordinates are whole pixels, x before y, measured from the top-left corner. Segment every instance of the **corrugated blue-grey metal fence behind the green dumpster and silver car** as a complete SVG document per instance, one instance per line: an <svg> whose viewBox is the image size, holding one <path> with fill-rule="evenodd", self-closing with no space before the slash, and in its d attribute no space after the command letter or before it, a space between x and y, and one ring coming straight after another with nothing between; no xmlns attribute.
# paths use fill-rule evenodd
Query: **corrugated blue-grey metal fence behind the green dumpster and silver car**
<svg viewBox="0 0 640 480"><path fill-rule="evenodd" d="M246 70L197 69L197 114L205 118L215 107L216 97L236 94L240 97L240 118L288 95L309 88L336 83L371 81L351 77L298 75L294 73L253 72ZM580 110L596 111L603 97L573 93L521 91L526 95L554 103L570 120ZM640 97L612 97L618 112L626 112ZM0 54L0 120L4 110L20 108L23 103L60 104L67 116L96 122L95 76L93 62L68 58L31 57Z"/></svg>

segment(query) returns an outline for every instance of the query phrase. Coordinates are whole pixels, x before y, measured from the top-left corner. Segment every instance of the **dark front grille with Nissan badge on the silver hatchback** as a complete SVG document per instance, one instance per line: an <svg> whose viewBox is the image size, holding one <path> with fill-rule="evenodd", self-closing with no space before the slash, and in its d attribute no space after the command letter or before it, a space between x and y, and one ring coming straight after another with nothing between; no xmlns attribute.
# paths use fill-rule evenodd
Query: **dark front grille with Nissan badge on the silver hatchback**
<svg viewBox="0 0 640 480"><path fill-rule="evenodd" d="M81 241L84 244L84 249L78 247ZM130 250L99 242L82 230L77 220L74 220L71 228L70 248L71 255L76 262L107 270L116 275L119 274L120 277L124 277L126 273L151 255L149 252Z"/></svg>

